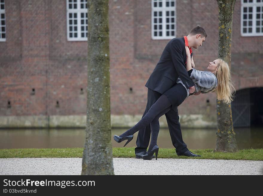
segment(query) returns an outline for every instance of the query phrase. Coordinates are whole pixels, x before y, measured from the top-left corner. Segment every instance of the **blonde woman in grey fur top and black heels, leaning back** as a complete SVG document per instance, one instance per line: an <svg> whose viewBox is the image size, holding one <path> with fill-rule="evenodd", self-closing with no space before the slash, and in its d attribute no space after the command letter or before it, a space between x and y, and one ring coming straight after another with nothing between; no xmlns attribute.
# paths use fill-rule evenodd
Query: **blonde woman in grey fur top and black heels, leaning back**
<svg viewBox="0 0 263 196"><path fill-rule="evenodd" d="M191 64L191 55L188 47L186 49L186 70L189 77L195 84L194 95L200 93L216 92L217 99L225 103L230 103L233 97L234 87L230 79L230 70L228 64L222 59L216 59L208 64L207 71L195 70L194 64ZM192 67L193 66L193 67ZM157 146L157 137L160 129L159 118L168 112L172 107L179 106L186 97L189 96L189 89L185 87L180 78L171 89L167 90L152 105L147 114L132 128L121 134L114 135L114 140L118 143L127 140L126 144L133 139L133 134L143 127L151 126L151 143L144 160L151 160L155 153L156 160L159 147ZM126 146L126 144L124 146ZM190 151L189 151L190 152ZM192 153L192 152L190 152ZM193 153L192 153L193 154ZM180 155L179 155L180 156ZM196 155L200 156L200 155Z"/></svg>

